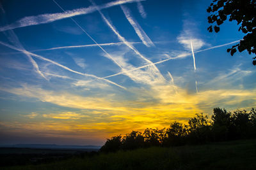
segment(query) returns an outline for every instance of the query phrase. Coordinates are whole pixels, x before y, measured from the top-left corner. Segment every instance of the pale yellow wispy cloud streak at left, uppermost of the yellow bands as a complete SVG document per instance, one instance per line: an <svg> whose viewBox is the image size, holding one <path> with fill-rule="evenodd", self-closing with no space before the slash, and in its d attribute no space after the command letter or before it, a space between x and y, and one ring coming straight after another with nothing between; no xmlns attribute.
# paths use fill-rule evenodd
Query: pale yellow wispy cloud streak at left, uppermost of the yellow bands
<svg viewBox="0 0 256 170"><path fill-rule="evenodd" d="M51 90L44 90L40 87L31 85L22 85L19 88L3 88L0 90L16 94L18 96L32 97L39 99L42 102L49 102L64 106L68 108L79 108L89 110L125 110L119 106L112 104L111 99L106 97L83 97L68 92L55 92Z"/></svg>

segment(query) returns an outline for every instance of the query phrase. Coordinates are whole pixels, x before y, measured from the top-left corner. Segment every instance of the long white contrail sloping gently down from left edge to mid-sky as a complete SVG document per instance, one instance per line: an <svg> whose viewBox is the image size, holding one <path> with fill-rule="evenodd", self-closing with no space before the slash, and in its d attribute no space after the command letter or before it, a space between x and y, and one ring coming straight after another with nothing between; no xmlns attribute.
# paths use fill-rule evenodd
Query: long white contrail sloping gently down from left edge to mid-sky
<svg viewBox="0 0 256 170"><path fill-rule="evenodd" d="M59 67L62 67L63 69L66 69L66 70L68 70L68 71L70 71L70 72L72 72L72 73L80 74L80 75L82 75L82 76L90 76L90 77L92 77L92 78L96 78L97 80L104 80L104 81L106 81L106 82L108 82L108 83L111 83L111 84L113 84L113 85L116 85L116 86L118 86L118 87L120 87L120 88L126 90L125 87L122 87L121 85L118 85L117 83L114 83L113 81L110 81L110 80L108 80L108 79L106 79L106 78L100 78L100 77L95 76L95 75L93 75L93 74L86 74L86 73L80 73L80 72L78 72L78 71L74 71L73 69L70 69L70 68L68 68L67 66L63 66L62 64L60 64L60 63L58 63L58 62L55 62L55 61L50 60L50 59L47 59L47 58L42 57L41 55L37 55L37 54L35 54L35 53L28 52L28 51L26 51L26 50L20 50L19 48L16 48L15 46L12 46L12 45L8 45L8 44L6 44L6 43L4 43L4 42L2 42L2 41L0 41L0 44L1 44L1 45L4 45L4 46L7 46L7 47L9 47L9 48L12 48L13 50L17 50L17 51L19 51L19 52L28 53L29 55L32 55L32 56L34 56L34 57L36 57L36 58L38 58L38 59L46 60L46 61L48 61L48 62L51 62L52 64L54 64L54 65L56 65L56 66L59 66Z"/></svg>

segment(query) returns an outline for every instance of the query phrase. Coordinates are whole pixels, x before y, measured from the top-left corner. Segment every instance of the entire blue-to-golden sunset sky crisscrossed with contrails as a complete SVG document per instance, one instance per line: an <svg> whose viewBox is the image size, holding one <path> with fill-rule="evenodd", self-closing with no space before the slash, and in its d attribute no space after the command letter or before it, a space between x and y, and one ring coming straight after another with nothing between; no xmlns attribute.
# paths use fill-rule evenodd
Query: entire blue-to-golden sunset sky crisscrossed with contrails
<svg viewBox="0 0 256 170"><path fill-rule="evenodd" d="M36 3L35 3L36 2ZM0 144L106 138L256 106L256 67L210 0L0 1Z"/></svg>

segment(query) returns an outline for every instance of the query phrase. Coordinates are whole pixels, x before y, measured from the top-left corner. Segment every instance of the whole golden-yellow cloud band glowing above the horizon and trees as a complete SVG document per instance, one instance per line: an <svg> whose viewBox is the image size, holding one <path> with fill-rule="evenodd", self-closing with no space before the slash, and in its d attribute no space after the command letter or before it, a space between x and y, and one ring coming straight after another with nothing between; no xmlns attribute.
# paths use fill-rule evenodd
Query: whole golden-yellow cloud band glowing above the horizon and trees
<svg viewBox="0 0 256 170"><path fill-rule="evenodd" d="M212 108L216 106L229 106L227 109L236 110L237 106L245 101L252 101L250 104L254 106L256 104L256 90L220 89L191 94L168 83L149 89L130 89L138 96L129 100L124 96L106 94L101 97L83 97L29 86L6 90L20 96L35 97L40 101L83 111L42 114L41 122L8 122L4 127L9 126L22 132L44 132L45 136L58 134L72 138L101 138L102 141L132 130L168 127L175 120L186 123L195 113L211 113ZM38 117L38 113L31 113L26 117ZM54 118L54 121L47 118Z"/></svg>

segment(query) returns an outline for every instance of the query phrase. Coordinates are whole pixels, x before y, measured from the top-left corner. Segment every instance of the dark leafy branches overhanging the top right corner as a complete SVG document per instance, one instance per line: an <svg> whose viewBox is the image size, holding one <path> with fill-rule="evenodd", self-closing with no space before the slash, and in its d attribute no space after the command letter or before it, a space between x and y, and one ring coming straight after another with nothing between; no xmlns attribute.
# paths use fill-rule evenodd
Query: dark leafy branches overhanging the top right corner
<svg viewBox="0 0 256 170"><path fill-rule="evenodd" d="M207 12L211 13L208 17L208 22L211 24L208 31L220 31L220 25L225 20L236 20L237 25L240 24L238 31L242 31L244 38L237 44L228 48L227 52L231 55L237 52L247 50L249 54L256 54L256 1L255 0L213 0ZM213 29L212 29L212 26ZM253 57L256 59L256 57ZM253 65L256 65L256 60L253 60Z"/></svg>

